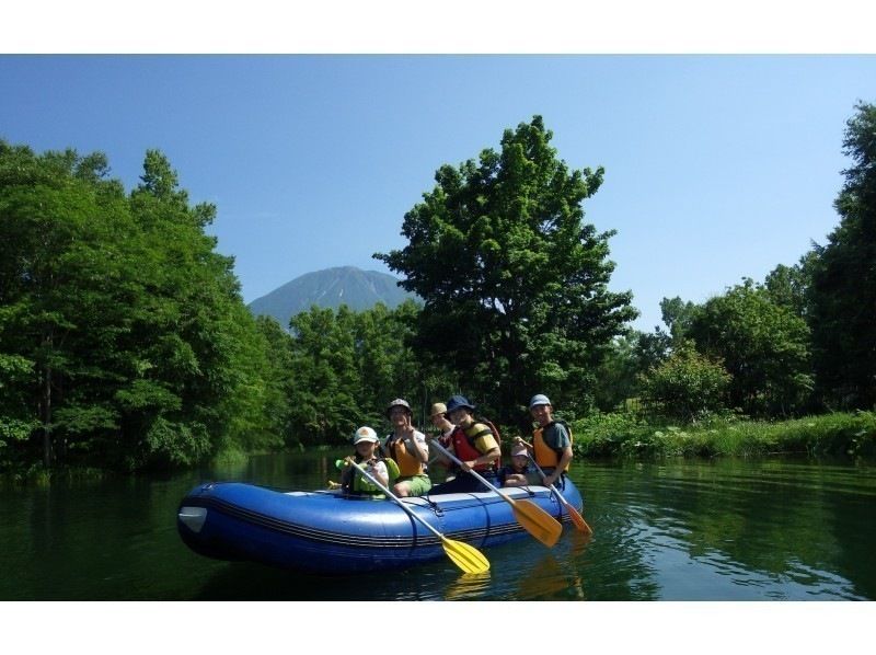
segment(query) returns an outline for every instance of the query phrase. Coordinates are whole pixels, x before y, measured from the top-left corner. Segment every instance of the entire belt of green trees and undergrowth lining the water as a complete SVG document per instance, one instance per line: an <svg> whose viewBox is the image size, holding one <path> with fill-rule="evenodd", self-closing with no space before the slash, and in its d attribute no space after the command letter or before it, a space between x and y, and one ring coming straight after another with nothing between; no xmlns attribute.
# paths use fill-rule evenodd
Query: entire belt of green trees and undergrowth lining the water
<svg viewBox="0 0 876 655"><path fill-rule="evenodd" d="M385 429L393 398L422 426L458 392L520 430L548 393L586 455L753 451L740 417L873 410L876 107L849 120L828 243L762 284L665 298L653 333L626 328L631 295L608 289L613 232L584 222L602 170L569 170L551 138L537 116L438 170L407 245L374 255L425 306L313 307L289 325L251 315L205 231L216 208L191 204L160 152L128 193L100 153L0 141L0 471L339 445ZM776 447L869 453L872 414L846 416L807 418L815 436L793 423L803 436Z"/></svg>

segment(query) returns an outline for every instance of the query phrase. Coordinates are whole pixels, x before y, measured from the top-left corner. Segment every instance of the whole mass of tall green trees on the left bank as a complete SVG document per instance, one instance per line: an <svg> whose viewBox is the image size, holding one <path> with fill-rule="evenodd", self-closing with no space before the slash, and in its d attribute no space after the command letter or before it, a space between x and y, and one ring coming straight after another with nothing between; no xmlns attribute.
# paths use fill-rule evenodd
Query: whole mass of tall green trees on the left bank
<svg viewBox="0 0 876 655"><path fill-rule="evenodd" d="M232 261L157 151L129 195L101 154L0 143L0 461L124 468L263 447L264 340Z"/></svg>

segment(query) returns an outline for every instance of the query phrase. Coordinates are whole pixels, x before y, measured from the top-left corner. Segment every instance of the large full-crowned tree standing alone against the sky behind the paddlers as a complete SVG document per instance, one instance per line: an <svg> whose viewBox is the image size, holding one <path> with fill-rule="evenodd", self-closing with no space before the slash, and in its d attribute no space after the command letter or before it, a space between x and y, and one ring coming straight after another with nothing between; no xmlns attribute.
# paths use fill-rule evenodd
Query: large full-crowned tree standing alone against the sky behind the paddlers
<svg viewBox="0 0 876 655"><path fill-rule="evenodd" d="M541 117L506 130L502 150L441 166L405 214L408 244L376 258L425 301L418 349L450 360L461 384L502 421L526 420L529 394L587 411L595 369L624 323L631 294L608 283L613 232L585 225L602 169L570 171Z"/></svg>

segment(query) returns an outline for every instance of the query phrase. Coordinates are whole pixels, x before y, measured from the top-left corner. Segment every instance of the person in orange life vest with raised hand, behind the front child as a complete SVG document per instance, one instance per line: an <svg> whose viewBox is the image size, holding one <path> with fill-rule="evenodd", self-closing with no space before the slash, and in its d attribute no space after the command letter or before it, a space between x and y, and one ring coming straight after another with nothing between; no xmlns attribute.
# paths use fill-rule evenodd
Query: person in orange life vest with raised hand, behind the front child
<svg viewBox="0 0 876 655"><path fill-rule="evenodd" d="M401 398L387 407L392 434L383 441L382 452L399 464L399 479L392 487L396 496L422 496L431 489L431 480L425 471L429 447L426 435L414 429L413 416L411 405Z"/></svg>

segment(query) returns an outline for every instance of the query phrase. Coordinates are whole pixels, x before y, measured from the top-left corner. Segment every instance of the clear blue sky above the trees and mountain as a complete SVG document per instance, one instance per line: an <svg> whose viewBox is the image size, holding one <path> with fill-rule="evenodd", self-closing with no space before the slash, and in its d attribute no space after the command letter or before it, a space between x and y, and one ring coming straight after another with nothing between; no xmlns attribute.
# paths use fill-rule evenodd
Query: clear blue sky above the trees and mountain
<svg viewBox="0 0 876 655"><path fill-rule="evenodd" d="M573 168L604 166L585 220L616 230L611 287L660 323L792 265L839 218L841 152L876 57L829 55L0 55L0 137L101 150L130 188L158 148L250 302L310 271L387 271L445 163L534 114Z"/></svg>

